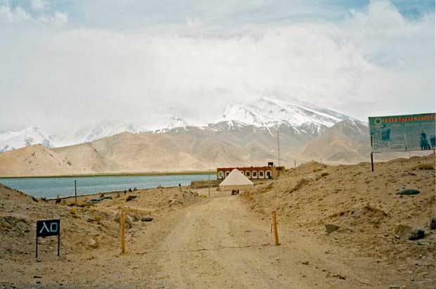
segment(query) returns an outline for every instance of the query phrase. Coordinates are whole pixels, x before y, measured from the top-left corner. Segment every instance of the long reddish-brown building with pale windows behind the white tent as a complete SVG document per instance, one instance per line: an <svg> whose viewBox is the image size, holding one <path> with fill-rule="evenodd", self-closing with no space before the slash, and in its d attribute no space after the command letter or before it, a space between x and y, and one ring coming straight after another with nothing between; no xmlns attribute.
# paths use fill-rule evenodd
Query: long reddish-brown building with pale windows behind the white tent
<svg viewBox="0 0 436 289"><path fill-rule="evenodd" d="M238 169L248 179L276 179L284 171L285 167L276 167L269 162L264 167L217 167L217 179L226 179L233 169Z"/></svg>

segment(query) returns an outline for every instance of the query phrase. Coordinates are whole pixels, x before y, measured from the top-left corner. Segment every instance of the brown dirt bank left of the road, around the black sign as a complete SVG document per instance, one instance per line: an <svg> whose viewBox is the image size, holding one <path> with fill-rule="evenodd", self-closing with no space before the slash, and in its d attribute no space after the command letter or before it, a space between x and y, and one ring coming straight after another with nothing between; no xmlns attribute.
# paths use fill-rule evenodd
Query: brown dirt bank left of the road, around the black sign
<svg viewBox="0 0 436 289"><path fill-rule="evenodd" d="M70 284L71 288L108 288L108 284L117 282L129 288L129 281L134 280L132 270L127 268L127 276L121 279L115 274L129 262L127 259L116 262L120 256L120 236L115 217L120 209L124 207L124 212L132 217L132 228L126 223L127 252L138 252L154 248L166 236L171 222L162 219L205 200L179 188L104 195L107 199L97 204L90 204L89 200L100 195L79 196L77 206L74 198L56 204L56 200L32 198L0 184L0 288L35 284L41 284L41 288L58 288L60 284ZM136 198L127 201L132 196ZM57 238L48 237L39 238L39 259L35 259L39 219L61 220L60 257Z"/></svg>

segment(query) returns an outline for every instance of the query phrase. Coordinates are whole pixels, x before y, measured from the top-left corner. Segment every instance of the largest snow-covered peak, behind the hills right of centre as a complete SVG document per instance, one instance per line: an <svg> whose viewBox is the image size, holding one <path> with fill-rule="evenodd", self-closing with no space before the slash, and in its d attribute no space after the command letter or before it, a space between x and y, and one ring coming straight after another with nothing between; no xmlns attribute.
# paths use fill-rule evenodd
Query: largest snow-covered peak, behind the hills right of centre
<svg viewBox="0 0 436 289"><path fill-rule="evenodd" d="M348 118L335 110L311 103L295 99L281 101L276 98L259 98L245 105L231 103L224 109L222 117L224 120L238 120L257 127L274 127L284 123L312 131L321 131Z"/></svg>

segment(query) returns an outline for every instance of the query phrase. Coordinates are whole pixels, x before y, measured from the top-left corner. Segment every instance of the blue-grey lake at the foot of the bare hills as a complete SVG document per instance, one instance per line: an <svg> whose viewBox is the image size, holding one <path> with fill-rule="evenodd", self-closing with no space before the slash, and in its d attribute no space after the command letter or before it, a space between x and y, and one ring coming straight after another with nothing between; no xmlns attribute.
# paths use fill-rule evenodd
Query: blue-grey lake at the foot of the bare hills
<svg viewBox="0 0 436 289"><path fill-rule="evenodd" d="M217 179L215 174L178 174L170 176L81 176L0 179L0 183L40 198L57 198L74 195L77 180L77 195L124 191L129 188L157 188L158 186L187 186L191 181Z"/></svg>

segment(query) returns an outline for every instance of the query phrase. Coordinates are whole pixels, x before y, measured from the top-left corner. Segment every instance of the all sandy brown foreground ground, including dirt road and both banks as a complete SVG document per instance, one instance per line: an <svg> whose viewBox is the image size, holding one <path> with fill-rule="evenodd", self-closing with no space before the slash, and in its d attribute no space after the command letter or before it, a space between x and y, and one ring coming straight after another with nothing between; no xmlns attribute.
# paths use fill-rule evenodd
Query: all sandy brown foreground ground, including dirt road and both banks
<svg viewBox="0 0 436 289"><path fill-rule="evenodd" d="M387 169L397 165L387 164ZM295 192L307 194L304 190L317 186L314 181L295 190L289 179L297 182L297 172L307 176L304 169L314 171L310 166L313 164L245 195L212 190L209 197L207 188L193 193L188 188L162 188L136 191L132 193L136 199L129 202L129 194L111 193L108 195L113 200L91 207L70 207L72 199L60 205L41 200L36 203L0 186L0 288L434 288L434 231L426 229L425 238L417 241L398 240L392 233L397 222L424 226L428 218L421 214L434 212L435 191L427 184L434 184L434 169L411 175L421 179L416 186L422 195L391 202L392 207L397 201L405 202L402 206L407 208L409 218L391 212L385 203L388 198L371 197L390 217L379 218L379 228L371 223L367 229L364 224L340 219L351 211L341 216L330 212L342 212L342 206L349 210L359 207L359 202L349 204L340 193L335 195L339 194L342 205L333 202L332 208L324 204L319 212L314 207L319 205L316 200L320 196L307 195L312 198L311 204L300 195L302 200L295 202L306 206L306 218L302 220L297 203L284 200L288 195L279 191L292 188L294 198ZM332 179L343 169L361 169L342 166L324 171L316 166L316 173L328 172ZM384 172L383 168L378 172ZM89 198L80 197L79 203ZM277 207L276 201L287 201L293 214ZM413 203L420 205L420 214L412 214L411 210L418 206ZM375 203L370 205L376 207ZM134 221L132 229L127 229L124 255L120 254L118 224L113 220L120 207L139 219L154 218L150 222ZM278 211L279 246L274 245L271 234L271 209ZM40 240L40 256L35 259L34 221L51 217L62 220L61 256L56 256L56 238L51 237ZM327 234L325 222L344 229ZM387 225L383 226L383 222Z"/></svg>

